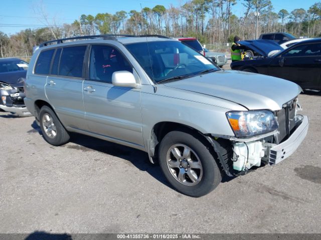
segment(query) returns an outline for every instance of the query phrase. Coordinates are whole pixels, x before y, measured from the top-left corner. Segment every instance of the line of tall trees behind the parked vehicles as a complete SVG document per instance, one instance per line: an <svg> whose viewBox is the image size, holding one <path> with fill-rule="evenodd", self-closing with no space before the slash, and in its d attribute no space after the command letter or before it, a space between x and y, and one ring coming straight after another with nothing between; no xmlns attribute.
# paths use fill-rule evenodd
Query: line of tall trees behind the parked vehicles
<svg viewBox="0 0 321 240"><path fill-rule="evenodd" d="M241 16L233 13L236 4L245 9ZM321 36L321 2L308 9L275 12L270 0L188 0L167 8L157 4L140 11L82 14L62 25L42 11L39 21L45 27L28 28L10 36L0 31L0 56L28 56L33 46L43 41L91 34L194 36L208 44L231 42L235 35L255 39L259 33L273 31L316 37Z"/></svg>

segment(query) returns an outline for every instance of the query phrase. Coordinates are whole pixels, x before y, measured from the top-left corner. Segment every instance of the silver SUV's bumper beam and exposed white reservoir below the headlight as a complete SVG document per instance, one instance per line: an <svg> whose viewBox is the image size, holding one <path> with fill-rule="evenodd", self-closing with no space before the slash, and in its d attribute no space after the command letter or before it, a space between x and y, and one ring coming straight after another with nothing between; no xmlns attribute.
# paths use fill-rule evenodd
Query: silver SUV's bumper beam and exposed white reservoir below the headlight
<svg viewBox="0 0 321 240"><path fill-rule="evenodd" d="M252 166L261 166L262 163L277 164L298 148L307 134L309 120L305 115L297 116L298 120L291 134L278 144L271 143L271 139L279 134L277 130L247 139L212 134L207 136L207 139L214 147L227 175L245 174ZM223 151L220 143L222 141L225 142Z"/></svg>

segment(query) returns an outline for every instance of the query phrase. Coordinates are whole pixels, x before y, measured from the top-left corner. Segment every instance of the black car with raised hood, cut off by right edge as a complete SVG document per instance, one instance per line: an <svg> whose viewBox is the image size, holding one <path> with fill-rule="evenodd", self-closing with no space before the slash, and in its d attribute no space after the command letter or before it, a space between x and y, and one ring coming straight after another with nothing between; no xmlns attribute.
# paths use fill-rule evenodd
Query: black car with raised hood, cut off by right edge
<svg viewBox="0 0 321 240"><path fill-rule="evenodd" d="M234 61L231 68L284 78L303 89L321 90L321 38L298 42L274 54L260 50L263 57Z"/></svg>

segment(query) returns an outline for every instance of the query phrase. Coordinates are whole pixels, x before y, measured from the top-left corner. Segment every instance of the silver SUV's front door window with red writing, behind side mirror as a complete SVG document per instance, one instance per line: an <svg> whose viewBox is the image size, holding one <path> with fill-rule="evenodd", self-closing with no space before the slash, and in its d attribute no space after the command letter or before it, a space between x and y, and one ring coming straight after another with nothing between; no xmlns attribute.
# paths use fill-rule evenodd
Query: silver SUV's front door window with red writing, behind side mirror
<svg viewBox="0 0 321 240"><path fill-rule="evenodd" d="M89 79L111 83L112 73L115 71L133 70L115 47L93 45L90 50Z"/></svg>

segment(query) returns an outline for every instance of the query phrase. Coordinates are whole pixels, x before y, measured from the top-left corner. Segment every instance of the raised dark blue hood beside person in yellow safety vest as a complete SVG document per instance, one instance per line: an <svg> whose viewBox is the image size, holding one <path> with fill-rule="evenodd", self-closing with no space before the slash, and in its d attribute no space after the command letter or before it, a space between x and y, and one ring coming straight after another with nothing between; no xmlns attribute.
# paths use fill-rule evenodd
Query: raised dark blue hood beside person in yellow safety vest
<svg viewBox="0 0 321 240"><path fill-rule="evenodd" d="M262 56L268 56L269 52L274 50L284 50L283 47L272 40L244 40L237 43L256 51Z"/></svg>

